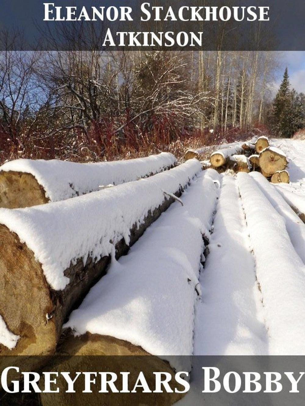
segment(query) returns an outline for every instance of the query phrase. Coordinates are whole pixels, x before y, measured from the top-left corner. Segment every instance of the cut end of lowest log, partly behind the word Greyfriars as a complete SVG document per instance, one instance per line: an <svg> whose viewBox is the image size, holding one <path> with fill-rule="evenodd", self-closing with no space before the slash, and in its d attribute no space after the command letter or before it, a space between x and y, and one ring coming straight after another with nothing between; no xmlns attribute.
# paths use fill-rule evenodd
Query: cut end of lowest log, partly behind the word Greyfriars
<svg viewBox="0 0 305 406"><path fill-rule="evenodd" d="M98 393L100 385L92 385L92 393L90 394L90 405L99 406L107 404L116 406L124 405L172 405L183 397L181 393L153 393L155 390L155 376L153 372L162 371L171 374L172 379L170 385L178 390L183 390L183 387L174 383L174 371L167 361L163 361L157 356L152 356L144 351L141 347L135 346L127 341L98 334L86 333L84 335L74 337L70 330L65 333L59 348L58 358L54 358L54 365L48 365L46 371L70 371L74 376L76 371L110 371L117 374L118 378L115 385L120 389L122 387L121 371L129 371L129 386L133 389L140 371L143 372L148 387L152 393L143 393L138 390L136 393ZM94 355L87 358L85 356ZM99 357L101 356L102 357ZM119 355L119 356L118 356ZM108 356L112 356L108 358ZM59 362L56 362L57 359ZM65 385L64 381L59 380ZM40 400L43 406L55 406L57 404L75 404L84 405L88 403L87 393L83 391L83 378L76 380L74 390L76 393L65 393L65 388L60 387L59 393L41 393ZM41 382L41 387L44 387L44 382Z"/></svg>

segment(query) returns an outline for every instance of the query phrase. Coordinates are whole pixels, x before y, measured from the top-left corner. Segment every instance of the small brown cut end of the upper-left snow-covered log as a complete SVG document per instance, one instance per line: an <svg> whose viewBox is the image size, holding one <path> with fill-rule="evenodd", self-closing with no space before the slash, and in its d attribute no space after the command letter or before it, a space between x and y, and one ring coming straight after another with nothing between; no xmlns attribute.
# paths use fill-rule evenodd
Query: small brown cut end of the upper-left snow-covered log
<svg viewBox="0 0 305 406"><path fill-rule="evenodd" d="M0 172L0 207L15 209L48 201L44 188L30 173Z"/></svg>

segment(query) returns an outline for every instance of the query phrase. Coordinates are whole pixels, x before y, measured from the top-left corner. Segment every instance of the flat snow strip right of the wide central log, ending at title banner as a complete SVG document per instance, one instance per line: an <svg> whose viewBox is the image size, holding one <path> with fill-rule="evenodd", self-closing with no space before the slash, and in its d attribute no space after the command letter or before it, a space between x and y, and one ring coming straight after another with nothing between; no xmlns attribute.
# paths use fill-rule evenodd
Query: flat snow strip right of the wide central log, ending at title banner
<svg viewBox="0 0 305 406"><path fill-rule="evenodd" d="M262 306L237 181L225 174L221 179L209 256L200 274L194 355L263 355Z"/></svg>

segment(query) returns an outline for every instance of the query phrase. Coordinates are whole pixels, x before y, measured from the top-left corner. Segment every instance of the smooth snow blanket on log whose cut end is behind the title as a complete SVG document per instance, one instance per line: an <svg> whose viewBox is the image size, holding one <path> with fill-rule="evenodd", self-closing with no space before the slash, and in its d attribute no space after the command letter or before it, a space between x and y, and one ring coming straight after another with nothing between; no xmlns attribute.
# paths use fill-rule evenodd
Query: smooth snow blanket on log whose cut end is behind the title
<svg viewBox="0 0 305 406"><path fill-rule="evenodd" d="M162 356L177 370L189 366L171 356L192 354L200 262L219 192L215 181L219 181L216 171L204 171L183 193L183 206L172 205L128 255L111 263L107 275L64 325L83 337L87 350L69 339L64 351L92 353L88 335L99 335L102 354L109 354L105 337L113 337ZM118 355L121 346L111 351Z"/></svg>

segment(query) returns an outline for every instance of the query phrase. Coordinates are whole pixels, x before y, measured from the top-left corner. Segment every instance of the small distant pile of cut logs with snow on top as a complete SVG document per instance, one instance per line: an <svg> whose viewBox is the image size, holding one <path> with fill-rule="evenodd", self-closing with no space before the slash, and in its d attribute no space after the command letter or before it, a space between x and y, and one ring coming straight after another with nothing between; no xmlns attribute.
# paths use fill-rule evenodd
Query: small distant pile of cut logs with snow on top
<svg viewBox="0 0 305 406"><path fill-rule="evenodd" d="M211 153L210 162L211 167L219 172L227 169L237 173L259 171L272 183L290 181L285 153L270 145L266 136L218 149Z"/></svg>

